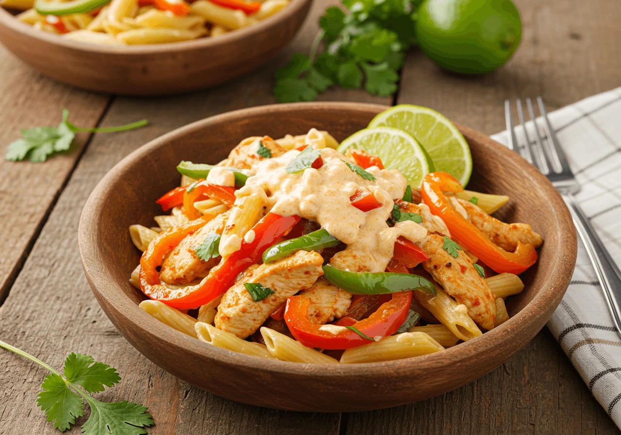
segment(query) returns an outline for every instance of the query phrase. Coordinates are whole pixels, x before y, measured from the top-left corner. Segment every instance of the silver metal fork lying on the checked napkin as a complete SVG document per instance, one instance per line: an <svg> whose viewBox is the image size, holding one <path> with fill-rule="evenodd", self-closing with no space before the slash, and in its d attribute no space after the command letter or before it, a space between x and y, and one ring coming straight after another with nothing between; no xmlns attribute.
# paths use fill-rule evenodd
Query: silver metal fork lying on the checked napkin
<svg viewBox="0 0 621 435"><path fill-rule="evenodd" d="M507 123L507 135L509 137L509 149L520 153L522 157L529 163L535 165L543 175L548 177L552 185L559 191L566 204L569 206L571 216L578 231L582 243L586 248L589 259L593 263L595 273L604 290L604 297L612 319L617 329L617 334L621 336L621 272L610 256L610 253L597 236L595 229L591 225L591 221L580 206L574 195L580 191L580 185L576 181L571 168L569 168L567 158L561 149L556 133L548 119L548 112L545 109L541 97L537 97L537 105L543 119L543 127L545 129L546 146L543 145L542 137L537 127L537 118L533 111L533 104L530 98L526 99L526 107L528 116L533 124L535 124L535 141L531 142L530 136L524 122L524 111L522 109L522 101L516 99L517 116L521 124L521 130L524 136L524 143L520 146L515 134L515 125L511 114L511 104L505 100L505 121Z"/></svg>

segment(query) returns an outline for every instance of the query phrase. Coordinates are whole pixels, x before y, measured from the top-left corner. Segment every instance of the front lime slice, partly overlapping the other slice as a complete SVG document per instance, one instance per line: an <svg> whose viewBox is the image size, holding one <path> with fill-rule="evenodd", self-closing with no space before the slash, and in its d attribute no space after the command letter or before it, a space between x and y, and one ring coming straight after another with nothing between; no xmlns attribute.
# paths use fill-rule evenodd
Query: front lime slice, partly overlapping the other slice
<svg viewBox="0 0 621 435"><path fill-rule="evenodd" d="M365 150L382 159L384 168L398 169L410 186L420 187L423 177L433 172L433 163L425 149L407 132L390 127L364 129L343 140L338 152L348 148Z"/></svg>

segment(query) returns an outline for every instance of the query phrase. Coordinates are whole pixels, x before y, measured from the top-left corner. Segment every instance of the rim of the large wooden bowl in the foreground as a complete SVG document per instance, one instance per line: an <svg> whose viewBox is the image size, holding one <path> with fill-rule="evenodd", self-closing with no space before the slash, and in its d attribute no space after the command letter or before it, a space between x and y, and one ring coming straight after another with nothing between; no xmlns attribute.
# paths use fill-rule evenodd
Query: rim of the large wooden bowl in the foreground
<svg viewBox="0 0 621 435"><path fill-rule="evenodd" d="M508 321L492 329L491 331L485 332L479 337L463 342L459 346L449 347L442 352L384 362L331 365L302 364L276 359L263 359L261 357L240 354L238 352L233 352L232 350L211 346L161 323L157 319L145 313L145 311L140 309L134 301L131 301L128 296L124 295L124 292L116 286L111 279L101 279L97 273L91 274L91 272L89 272L90 270L97 270L97 268L100 270L102 269L102 263L99 261L99 249L96 244L96 234L98 234L100 228L97 222L102 216L101 213L98 213L102 210L102 194L109 190L110 186L116 183L115 177L117 174L121 173L125 167L129 166L132 162L135 162L135 160L145 161L143 157L148 155L153 150L165 145L176 136L184 135L191 131L199 131L212 124L220 124L222 122L231 122L243 119L243 117L260 114L260 112L264 111L270 111L273 115L274 111L286 113L296 111L297 109L331 109L335 111L363 110L376 111L379 113L389 107L390 106L384 106L381 104L345 102L289 103L256 106L253 108L239 109L207 117L200 121L179 127L178 129L161 135L147 144L142 145L138 149L134 150L134 152L127 155L127 157L120 160L119 163L114 165L114 167L107 172L99 183L97 183L97 186L94 188L93 192L86 201L86 204L84 205L79 221L78 244L84 272L91 288L93 289L93 292L96 293L98 299L99 297L104 298L109 306L112 306L112 308L114 308L120 316L127 319L127 321L132 324L132 327L135 328L134 335L136 336L146 335L150 336L150 339L165 341L165 344L168 346L184 347L186 352L192 353L203 360L212 360L213 362L227 364L233 367L252 367L254 369L259 369L273 374L287 373L300 377L312 376L319 379L327 379L333 377L366 377L378 375L378 370L381 370L386 374L390 373L391 377L411 375L413 371L421 369L429 370L434 367L443 367L449 363L455 365L466 360L473 360L476 355L483 354L484 352L491 352L493 349L497 349L502 345L509 350L509 352L507 352L507 355L509 355L507 357L508 359L526 344L526 342L524 342L524 344L519 347L511 347L511 338L520 337L520 334L530 334L530 332L528 332L530 329L528 326L529 324L532 325L533 316L535 317L535 320L537 320L537 313L545 313L550 304L554 303L557 299L560 301L564 291L569 285L577 252L577 241L574 231L564 231L560 233L559 245L563 244L568 247L569 255L567 252L561 253L557 251L556 256L553 259L555 260L555 264L557 266L555 268L556 273L546 277L546 282L543 283L542 290L538 293L537 297L533 298L533 300L531 300ZM533 178L537 182L538 186L540 186L543 196L555 196L558 201L551 202L555 202L556 204L564 204L563 199L559 195L558 191L556 191L556 189L551 185L550 181L548 181L548 179L535 167L524 160L524 158L517 155L517 153L511 152L509 149L501 144L498 144L496 141L492 140L489 136L483 133L474 131L469 127L461 126L460 124L455 125L458 129L460 129L460 131L466 132L466 135L474 137L478 141L488 142L492 147L495 147L497 152L505 159L517 159L516 163L524 169L526 175ZM566 206L564 208L555 206L555 211L557 212L557 219L555 221L557 227L573 228L571 215L569 214L569 210ZM95 231L91 231L89 233L89 229L91 228L95 228ZM569 261L567 261L567 259L569 259ZM107 275L111 275L107 268L104 267L103 269ZM548 318L543 321L541 321L541 319L538 320L540 325L537 332L544 326L546 321L548 321ZM528 337L528 341L530 341L530 335ZM517 340L517 342L520 341Z"/></svg>

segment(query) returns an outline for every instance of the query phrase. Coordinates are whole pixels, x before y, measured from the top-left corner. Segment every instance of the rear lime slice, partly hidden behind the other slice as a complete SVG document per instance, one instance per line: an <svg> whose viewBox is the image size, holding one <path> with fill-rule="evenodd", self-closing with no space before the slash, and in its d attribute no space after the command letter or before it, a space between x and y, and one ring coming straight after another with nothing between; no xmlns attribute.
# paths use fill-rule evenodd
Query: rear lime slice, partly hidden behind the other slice
<svg viewBox="0 0 621 435"><path fill-rule="evenodd" d="M435 110L411 104L399 104L381 112L369 123L371 127L394 127L408 132L425 147L435 170L448 172L462 186L472 173L468 142L445 116Z"/></svg>

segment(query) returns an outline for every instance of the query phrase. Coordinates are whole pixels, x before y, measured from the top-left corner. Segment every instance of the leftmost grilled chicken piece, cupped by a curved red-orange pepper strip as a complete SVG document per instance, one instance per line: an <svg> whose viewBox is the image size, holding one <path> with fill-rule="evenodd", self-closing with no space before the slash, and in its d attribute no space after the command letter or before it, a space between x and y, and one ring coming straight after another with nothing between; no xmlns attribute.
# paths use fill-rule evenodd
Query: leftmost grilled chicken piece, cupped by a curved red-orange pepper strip
<svg viewBox="0 0 621 435"><path fill-rule="evenodd" d="M205 241L205 237L210 232L222 234L229 214L230 211L219 214L194 234L181 240L181 243L166 255L161 265L161 280L168 284L179 285L193 282L196 278L206 277L209 270L220 261L220 257L207 261L201 260L196 255L196 247Z"/></svg>

